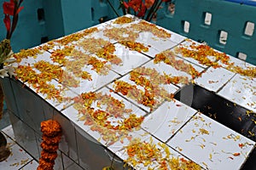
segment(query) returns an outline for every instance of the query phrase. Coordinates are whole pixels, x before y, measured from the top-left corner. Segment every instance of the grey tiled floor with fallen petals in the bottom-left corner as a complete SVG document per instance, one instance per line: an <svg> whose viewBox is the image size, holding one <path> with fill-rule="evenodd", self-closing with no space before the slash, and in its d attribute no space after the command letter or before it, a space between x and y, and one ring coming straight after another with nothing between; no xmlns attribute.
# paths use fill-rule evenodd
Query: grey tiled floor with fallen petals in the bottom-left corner
<svg viewBox="0 0 256 170"><path fill-rule="evenodd" d="M0 169L4 170L32 170L37 169L38 161L26 153L19 144L15 142L15 135L11 125L4 127L2 133L6 136L11 155L7 160L0 162Z"/></svg>

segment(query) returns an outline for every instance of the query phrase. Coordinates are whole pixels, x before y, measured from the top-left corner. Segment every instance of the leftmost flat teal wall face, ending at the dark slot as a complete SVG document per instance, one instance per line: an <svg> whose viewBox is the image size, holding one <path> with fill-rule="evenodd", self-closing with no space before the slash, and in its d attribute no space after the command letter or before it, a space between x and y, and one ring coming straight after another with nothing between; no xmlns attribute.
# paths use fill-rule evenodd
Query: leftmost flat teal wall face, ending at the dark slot
<svg viewBox="0 0 256 170"><path fill-rule="evenodd" d="M0 0L0 38L6 36L3 23L3 0ZM41 37L46 35L44 23L38 21L38 8L42 8L42 1L26 0L21 3L24 8L20 11L18 25L11 37L12 48L15 52L20 48L32 48L41 42Z"/></svg>

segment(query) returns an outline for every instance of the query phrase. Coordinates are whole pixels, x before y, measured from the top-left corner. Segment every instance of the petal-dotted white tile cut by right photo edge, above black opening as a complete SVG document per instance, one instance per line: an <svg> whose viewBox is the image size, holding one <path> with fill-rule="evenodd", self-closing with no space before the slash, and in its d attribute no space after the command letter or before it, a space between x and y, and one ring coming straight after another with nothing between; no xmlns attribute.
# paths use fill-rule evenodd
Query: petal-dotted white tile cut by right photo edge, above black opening
<svg viewBox="0 0 256 170"><path fill-rule="evenodd" d="M249 77L236 74L218 95L230 101L256 112L256 81Z"/></svg>

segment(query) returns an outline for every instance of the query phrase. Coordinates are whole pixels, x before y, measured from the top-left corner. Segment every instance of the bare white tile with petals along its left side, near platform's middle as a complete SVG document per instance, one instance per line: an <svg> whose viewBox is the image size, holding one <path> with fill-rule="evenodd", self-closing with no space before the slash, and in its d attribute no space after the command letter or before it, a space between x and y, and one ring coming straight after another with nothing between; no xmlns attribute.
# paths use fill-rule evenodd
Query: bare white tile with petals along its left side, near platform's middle
<svg viewBox="0 0 256 170"><path fill-rule="evenodd" d="M120 65L112 65L112 70L121 75L130 72L132 69L139 65L143 65L143 63L149 60L145 55L140 54L137 51L131 51L119 43L114 44L114 46L116 50L113 54L116 54L123 62Z"/></svg>

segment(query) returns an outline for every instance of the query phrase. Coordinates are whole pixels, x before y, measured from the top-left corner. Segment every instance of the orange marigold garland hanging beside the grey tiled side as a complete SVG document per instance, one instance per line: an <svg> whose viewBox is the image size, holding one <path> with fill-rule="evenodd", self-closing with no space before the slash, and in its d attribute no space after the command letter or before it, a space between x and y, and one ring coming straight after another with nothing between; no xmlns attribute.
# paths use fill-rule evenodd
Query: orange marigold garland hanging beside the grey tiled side
<svg viewBox="0 0 256 170"><path fill-rule="evenodd" d="M61 140L61 125L53 120L44 121L41 122L41 131L43 133L41 143L43 150L41 151L38 170L53 170Z"/></svg>

